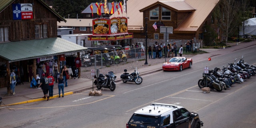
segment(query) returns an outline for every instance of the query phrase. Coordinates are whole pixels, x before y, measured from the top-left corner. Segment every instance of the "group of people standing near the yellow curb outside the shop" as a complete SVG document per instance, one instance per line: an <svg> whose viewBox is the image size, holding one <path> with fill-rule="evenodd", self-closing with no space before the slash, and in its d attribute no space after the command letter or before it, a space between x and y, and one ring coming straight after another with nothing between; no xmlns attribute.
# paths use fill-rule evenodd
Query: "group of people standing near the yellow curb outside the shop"
<svg viewBox="0 0 256 128"><path fill-rule="evenodd" d="M60 90L62 90L62 97L64 97L64 84L65 87L68 86L66 75L69 74L68 69L66 65L64 65L64 68L62 69L62 73L60 74L60 77L57 78L58 82L58 90L59 90L59 98L60 98ZM40 84L38 87L41 87L43 90L44 96L42 98L47 98L47 101L50 97L53 96L53 87L54 87L54 77L52 76L52 73L49 74L48 77L46 77L45 74L42 74L42 80L40 80ZM49 96L48 96L49 92Z"/></svg>

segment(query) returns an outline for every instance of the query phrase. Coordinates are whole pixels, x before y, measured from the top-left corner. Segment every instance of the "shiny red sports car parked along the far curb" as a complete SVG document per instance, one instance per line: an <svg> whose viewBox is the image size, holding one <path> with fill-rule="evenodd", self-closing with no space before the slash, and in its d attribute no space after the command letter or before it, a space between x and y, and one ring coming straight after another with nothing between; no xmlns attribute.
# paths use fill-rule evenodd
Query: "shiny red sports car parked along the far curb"
<svg viewBox="0 0 256 128"><path fill-rule="evenodd" d="M162 69L164 71L179 70L192 67L192 59L186 57L173 57L168 62L164 62Z"/></svg>

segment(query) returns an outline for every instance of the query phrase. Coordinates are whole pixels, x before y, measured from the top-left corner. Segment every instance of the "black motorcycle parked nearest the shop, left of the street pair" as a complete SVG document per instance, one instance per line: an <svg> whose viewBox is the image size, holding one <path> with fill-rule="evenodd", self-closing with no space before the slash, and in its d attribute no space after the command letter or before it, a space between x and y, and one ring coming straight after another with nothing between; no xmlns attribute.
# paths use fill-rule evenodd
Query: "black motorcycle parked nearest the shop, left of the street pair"
<svg viewBox="0 0 256 128"><path fill-rule="evenodd" d="M108 74L106 74L106 79L103 74L100 74L99 77L97 78L96 75L94 75L94 85L96 85L97 89L103 88L109 88L111 91L114 91L116 89L116 75L114 72L110 71Z"/></svg>

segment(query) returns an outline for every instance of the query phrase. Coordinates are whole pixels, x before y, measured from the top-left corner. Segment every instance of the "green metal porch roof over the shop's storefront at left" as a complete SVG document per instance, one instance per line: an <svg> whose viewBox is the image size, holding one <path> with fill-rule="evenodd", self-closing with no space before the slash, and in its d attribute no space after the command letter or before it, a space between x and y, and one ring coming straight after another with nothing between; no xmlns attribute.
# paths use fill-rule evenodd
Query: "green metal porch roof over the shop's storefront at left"
<svg viewBox="0 0 256 128"><path fill-rule="evenodd" d="M9 62L16 62L70 52L82 52L86 49L86 47L62 38L45 38L0 43L0 57Z"/></svg>

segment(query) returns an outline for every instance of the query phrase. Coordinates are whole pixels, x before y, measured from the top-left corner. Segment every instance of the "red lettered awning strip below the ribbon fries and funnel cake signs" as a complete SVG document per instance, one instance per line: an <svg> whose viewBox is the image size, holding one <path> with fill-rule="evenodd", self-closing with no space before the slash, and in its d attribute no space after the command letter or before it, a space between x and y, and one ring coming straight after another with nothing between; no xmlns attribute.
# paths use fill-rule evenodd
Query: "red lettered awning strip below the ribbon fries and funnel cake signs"
<svg viewBox="0 0 256 128"><path fill-rule="evenodd" d="M130 38L133 38L133 33L88 36L88 40L91 40L91 41L124 40L124 39L130 39Z"/></svg>

